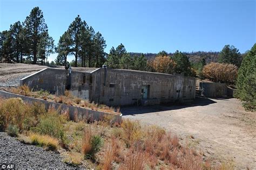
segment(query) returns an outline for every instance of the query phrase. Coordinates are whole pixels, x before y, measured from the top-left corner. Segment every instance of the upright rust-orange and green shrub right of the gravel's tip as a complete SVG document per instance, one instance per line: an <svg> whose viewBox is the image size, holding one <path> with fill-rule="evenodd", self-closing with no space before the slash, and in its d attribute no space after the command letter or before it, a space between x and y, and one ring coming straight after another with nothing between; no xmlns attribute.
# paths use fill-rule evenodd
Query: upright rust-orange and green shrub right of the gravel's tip
<svg viewBox="0 0 256 170"><path fill-rule="evenodd" d="M95 154L103 146L103 138L98 135L92 135L91 128L86 128L82 142L82 153L86 159L95 160Z"/></svg>

